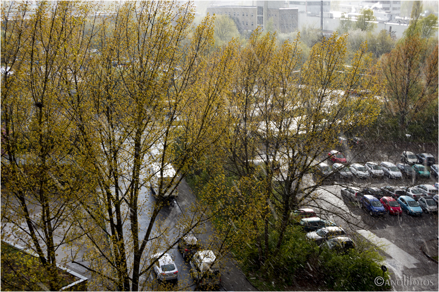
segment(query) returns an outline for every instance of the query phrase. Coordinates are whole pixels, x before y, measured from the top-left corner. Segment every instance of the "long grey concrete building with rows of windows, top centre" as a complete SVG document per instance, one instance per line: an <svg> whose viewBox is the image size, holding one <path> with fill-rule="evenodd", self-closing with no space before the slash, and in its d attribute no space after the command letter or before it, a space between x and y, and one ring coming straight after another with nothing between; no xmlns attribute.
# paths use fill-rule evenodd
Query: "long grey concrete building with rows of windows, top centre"
<svg viewBox="0 0 439 292"><path fill-rule="evenodd" d="M290 33L298 29L298 8L284 7L285 1L253 1L253 4L207 7L207 13L229 16L239 31L251 32L258 26L266 29L269 25L278 33Z"/></svg>

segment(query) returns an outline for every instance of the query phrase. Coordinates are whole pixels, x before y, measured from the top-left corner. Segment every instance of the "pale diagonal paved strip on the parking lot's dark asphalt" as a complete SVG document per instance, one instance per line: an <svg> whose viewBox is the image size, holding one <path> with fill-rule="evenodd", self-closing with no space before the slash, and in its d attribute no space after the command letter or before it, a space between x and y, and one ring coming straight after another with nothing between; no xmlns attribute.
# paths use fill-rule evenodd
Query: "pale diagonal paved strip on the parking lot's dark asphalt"
<svg viewBox="0 0 439 292"><path fill-rule="evenodd" d="M370 232L369 230L357 230L361 236L371 241L375 245L382 247L383 251L391 256L393 259L399 261L402 265L408 269L418 268L415 264L419 263L419 260L410 254L404 252L398 246L387 240L386 238L381 238Z"/></svg>

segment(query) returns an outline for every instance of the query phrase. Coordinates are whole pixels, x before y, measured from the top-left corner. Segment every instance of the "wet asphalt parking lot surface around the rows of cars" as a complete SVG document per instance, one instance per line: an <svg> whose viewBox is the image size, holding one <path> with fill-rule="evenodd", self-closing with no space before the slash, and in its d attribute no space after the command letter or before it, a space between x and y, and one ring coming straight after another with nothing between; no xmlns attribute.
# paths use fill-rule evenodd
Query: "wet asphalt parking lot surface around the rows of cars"
<svg viewBox="0 0 439 292"><path fill-rule="evenodd" d="M415 153L432 153L437 159L437 145L427 149L425 149L425 145L412 145L412 148L423 150L422 152L414 151ZM389 161L398 164L402 151L405 149L399 151L395 145L390 149L383 147L361 151L348 149L343 153L348 163L374 161L379 164L381 161ZM438 238L439 218L437 212L434 214L423 213L421 216L403 213L397 216L386 214L373 217L369 212L360 208L359 203L350 201L340 194L341 188L347 186L363 189L366 187L380 188L386 185L400 187L437 182L438 180L433 177L416 179L406 176L403 176L402 179L389 179L387 177L359 179L354 177L344 180L333 178L328 182L328 185L318 190L319 199L314 202L317 208L314 207L321 217L334 221L351 233L353 237L361 236L383 246L382 254L386 258L384 265L388 268L387 273L390 273L392 280L396 282L395 285L392 285L394 290L438 291L438 264L427 258L421 251L423 244ZM404 282L406 279L408 280ZM419 283L428 283L428 285Z"/></svg>

